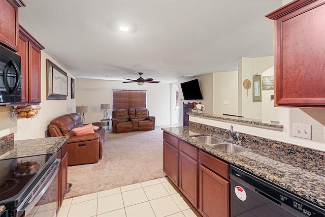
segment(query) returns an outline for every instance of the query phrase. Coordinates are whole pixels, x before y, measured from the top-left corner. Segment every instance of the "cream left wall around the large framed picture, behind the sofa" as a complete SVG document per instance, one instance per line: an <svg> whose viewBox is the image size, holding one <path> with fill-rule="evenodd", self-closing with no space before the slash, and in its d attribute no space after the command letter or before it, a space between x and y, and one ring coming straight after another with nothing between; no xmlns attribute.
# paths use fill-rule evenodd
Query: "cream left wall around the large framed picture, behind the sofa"
<svg viewBox="0 0 325 217"><path fill-rule="evenodd" d="M74 78L68 75L67 100L46 100L46 59L50 59L55 65L64 70L47 53L41 51L41 110L35 118L10 118L11 107L0 107L0 137L15 133L15 140L44 138L49 122L62 114L75 111L75 99L71 99L70 81Z"/></svg>

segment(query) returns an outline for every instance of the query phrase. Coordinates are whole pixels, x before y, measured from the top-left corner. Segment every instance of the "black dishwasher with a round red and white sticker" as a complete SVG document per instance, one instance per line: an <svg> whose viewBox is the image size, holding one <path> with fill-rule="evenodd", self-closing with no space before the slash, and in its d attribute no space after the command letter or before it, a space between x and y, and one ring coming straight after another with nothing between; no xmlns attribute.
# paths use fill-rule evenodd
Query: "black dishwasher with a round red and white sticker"
<svg viewBox="0 0 325 217"><path fill-rule="evenodd" d="M233 217L325 216L323 208L233 165L230 177Z"/></svg>

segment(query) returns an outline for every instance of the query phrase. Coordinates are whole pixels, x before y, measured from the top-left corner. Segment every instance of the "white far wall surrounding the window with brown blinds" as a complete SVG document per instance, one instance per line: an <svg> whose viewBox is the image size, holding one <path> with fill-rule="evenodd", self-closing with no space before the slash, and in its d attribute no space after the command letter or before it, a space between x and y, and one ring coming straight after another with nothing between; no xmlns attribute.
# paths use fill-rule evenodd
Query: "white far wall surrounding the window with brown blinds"
<svg viewBox="0 0 325 217"><path fill-rule="evenodd" d="M101 104L112 104L112 89L147 90L147 108L149 114L156 117L156 126L171 124L171 84L122 83L122 81L76 79L76 105L89 106L85 113L85 122L100 121L104 117ZM111 105L112 108L112 105ZM112 110L108 111L111 119Z"/></svg>

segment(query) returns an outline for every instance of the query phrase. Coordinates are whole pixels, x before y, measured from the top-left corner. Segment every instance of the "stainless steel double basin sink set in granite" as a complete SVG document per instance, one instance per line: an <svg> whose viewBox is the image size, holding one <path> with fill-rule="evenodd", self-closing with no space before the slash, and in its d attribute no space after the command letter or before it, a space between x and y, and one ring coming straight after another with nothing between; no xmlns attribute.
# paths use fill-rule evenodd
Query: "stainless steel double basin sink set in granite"
<svg viewBox="0 0 325 217"><path fill-rule="evenodd" d="M250 149L245 148L243 146L225 142L222 139L218 139L212 136L195 136L191 137L191 139L197 140L198 142L205 143L210 145L213 148L228 152L228 153L238 153L243 151L249 151Z"/></svg>

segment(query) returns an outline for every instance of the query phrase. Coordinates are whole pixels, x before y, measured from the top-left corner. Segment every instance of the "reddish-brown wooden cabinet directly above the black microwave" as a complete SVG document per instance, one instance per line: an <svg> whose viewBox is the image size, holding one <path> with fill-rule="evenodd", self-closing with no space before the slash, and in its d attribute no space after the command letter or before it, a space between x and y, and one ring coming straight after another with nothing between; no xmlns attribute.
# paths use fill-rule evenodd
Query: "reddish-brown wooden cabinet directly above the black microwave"
<svg viewBox="0 0 325 217"><path fill-rule="evenodd" d="M0 44L18 51L18 8L20 0L0 0Z"/></svg>

